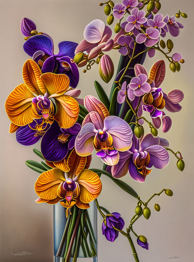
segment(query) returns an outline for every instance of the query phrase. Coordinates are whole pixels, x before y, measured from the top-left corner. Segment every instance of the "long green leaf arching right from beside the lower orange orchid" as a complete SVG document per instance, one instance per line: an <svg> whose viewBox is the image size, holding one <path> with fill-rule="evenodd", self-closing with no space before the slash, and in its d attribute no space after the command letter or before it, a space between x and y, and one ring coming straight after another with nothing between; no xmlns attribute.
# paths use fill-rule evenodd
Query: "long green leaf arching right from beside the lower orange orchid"
<svg viewBox="0 0 194 262"><path fill-rule="evenodd" d="M132 189L131 186L129 186L128 184L126 184L125 182L123 182L122 180L119 180L118 178L114 178L110 173L108 173L105 170L101 170L101 169L90 169L91 171L95 172L97 175L98 174L104 174L105 176L108 176L112 181L115 182L115 184L117 184L120 188L122 188L125 192L127 192L128 194L130 194L131 196L137 198L138 194L135 192L135 190Z"/></svg>

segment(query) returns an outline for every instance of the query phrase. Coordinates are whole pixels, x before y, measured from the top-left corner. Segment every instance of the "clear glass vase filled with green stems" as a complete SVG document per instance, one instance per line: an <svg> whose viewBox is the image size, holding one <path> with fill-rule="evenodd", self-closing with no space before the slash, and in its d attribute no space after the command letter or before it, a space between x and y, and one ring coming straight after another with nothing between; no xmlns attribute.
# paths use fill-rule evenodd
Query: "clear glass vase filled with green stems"
<svg viewBox="0 0 194 262"><path fill-rule="evenodd" d="M88 209L54 205L54 262L75 262L78 257L97 262L97 208L95 201ZM85 261L85 260L84 260Z"/></svg>

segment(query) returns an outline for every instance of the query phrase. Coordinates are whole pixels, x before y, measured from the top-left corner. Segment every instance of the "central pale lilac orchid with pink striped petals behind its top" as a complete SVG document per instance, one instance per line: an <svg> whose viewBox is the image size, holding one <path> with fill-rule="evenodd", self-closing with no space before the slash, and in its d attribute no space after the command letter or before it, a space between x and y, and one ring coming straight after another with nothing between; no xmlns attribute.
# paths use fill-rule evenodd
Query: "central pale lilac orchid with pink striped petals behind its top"
<svg viewBox="0 0 194 262"><path fill-rule="evenodd" d="M119 152L131 147L132 130L130 126L117 116L109 116L109 112L97 98L86 96L84 106L89 114L82 122L82 129L75 139L75 150L79 156L96 155L107 165L115 165L119 161Z"/></svg>

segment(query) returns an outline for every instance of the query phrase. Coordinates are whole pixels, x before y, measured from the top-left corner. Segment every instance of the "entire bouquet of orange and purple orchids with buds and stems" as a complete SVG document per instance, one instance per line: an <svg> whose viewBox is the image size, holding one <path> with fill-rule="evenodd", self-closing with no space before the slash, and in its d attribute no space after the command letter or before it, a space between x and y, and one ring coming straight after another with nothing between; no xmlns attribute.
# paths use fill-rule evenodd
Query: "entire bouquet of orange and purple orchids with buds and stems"
<svg viewBox="0 0 194 262"><path fill-rule="evenodd" d="M169 142L158 136L157 130L162 125L162 132L169 131L172 120L166 113L181 110L183 92L173 89L166 94L165 88L163 90L164 60L156 61L149 74L142 64L146 54L153 57L161 52L169 69L179 72L184 59L180 53L171 56L173 42L162 38L167 33L178 36L183 25L176 18L187 15L179 10L176 15L164 17L158 13L159 0L123 0L116 5L108 1L99 5L104 5L108 25L116 19L115 36L111 38L111 28L95 19L86 25L84 39L79 44L60 42L57 55L53 53L52 38L38 32L32 20L22 18L23 49L30 59L22 68L24 83L9 94L5 110L11 120L9 132L15 133L18 143L32 146L41 141L41 151L33 151L43 161L26 161L31 169L40 173L35 182L36 202L59 203L65 210L65 225L55 261L75 262L81 251L84 257L97 257L96 237L87 210L94 200L103 218L102 234L112 242L119 233L125 236L137 262L131 234L141 247L148 250L149 244L145 236L134 231L133 224L142 215L149 219L148 205L154 196L173 193L162 189L145 202L119 178L129 173L133 180L144 183L156 168L168 165L168 151L177 158L180 171L185 166L181 153L170 149ZM108 83L114 74L114 64L104 52L112 49L121 56L109 97L95 81L99 98L91 95L84 100L78 98L81 93L77 89L78 68L85 67L86 73L98 65L100 77ZM150 133L144 134L147 124ZM89 168L94 151L103 162L102 169ZM137 198L135 214L125 231L121 215L110 213L98 203L101 175L108 176ZM159 204L156 203L154 209L160 211ZM60 257L62 260L57 260Z"/></svg>

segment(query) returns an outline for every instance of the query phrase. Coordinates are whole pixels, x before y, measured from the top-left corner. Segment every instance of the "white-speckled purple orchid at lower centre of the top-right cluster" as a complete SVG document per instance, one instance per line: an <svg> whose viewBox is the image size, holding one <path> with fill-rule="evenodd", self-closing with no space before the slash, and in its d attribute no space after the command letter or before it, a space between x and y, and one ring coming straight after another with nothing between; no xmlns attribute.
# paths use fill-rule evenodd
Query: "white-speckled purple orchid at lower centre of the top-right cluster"
<svg viewBox="0 0 194 262"><path fill-rule="evenodd" d="M149 27L146 29L146 34L142 34L142 33L138 34L136 36L135 41L138 44L145 43L145 45L149 47L149 46L156 45L156 43L159 41L159 36L160 33L158 29Z"/></svg>

